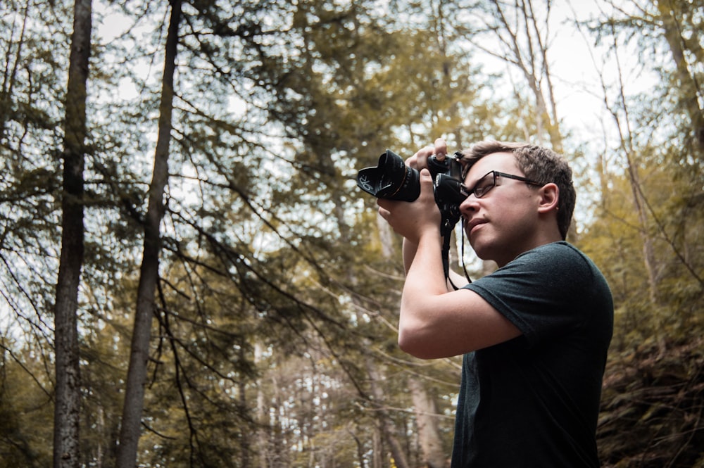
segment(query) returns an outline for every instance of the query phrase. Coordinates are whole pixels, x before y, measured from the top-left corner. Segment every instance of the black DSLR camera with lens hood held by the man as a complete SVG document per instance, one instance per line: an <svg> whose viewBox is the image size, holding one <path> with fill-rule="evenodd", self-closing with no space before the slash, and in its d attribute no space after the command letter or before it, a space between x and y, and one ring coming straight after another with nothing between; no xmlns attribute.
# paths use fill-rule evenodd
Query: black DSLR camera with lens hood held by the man
<svg viewBox="0 0 704 468"><path fill-rule="evenodd" d="M441 234L448 237L460 220L462 194L462 165L460 153L442 160L436 156L428 158L428 170L433 177L435 203L440 208ZM401 156L389 149L379 156L377 167L365 167L357 174L360 189L377 198L414 201L420 196L420 172L403 162Z"/></svg>

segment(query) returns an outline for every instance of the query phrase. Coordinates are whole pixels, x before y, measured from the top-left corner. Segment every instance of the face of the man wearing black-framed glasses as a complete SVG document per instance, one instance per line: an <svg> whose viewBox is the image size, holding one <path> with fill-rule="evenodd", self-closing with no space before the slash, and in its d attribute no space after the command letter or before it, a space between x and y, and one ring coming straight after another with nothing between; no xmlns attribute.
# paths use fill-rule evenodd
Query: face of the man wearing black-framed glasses
<svg viewBox="0 0 704 468"><path fill-rule="evenodd" d="M460 212L477 256L494 260L501 267L535 246L540 197L537 187L501 175L494 177L489 174L491 171L525 177L513 154L484 156L474 163L464 182L467 189L477 191L479 198L470 194L460 204Z"/></svg>

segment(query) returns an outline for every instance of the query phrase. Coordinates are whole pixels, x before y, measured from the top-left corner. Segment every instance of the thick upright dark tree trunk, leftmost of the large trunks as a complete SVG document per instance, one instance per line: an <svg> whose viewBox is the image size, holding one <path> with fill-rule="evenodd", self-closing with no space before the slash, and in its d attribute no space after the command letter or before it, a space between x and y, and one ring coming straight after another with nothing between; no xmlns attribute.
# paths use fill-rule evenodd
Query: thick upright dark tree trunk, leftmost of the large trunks
<svg viewBox="0 0 704 468"><path fill-rule="evenodd" d="M54 306L54 468L77 467L79 463L80 367L76 311L84 255L83 158L91 13L91 0L75 1L65 103L61 261Z"/></svg>

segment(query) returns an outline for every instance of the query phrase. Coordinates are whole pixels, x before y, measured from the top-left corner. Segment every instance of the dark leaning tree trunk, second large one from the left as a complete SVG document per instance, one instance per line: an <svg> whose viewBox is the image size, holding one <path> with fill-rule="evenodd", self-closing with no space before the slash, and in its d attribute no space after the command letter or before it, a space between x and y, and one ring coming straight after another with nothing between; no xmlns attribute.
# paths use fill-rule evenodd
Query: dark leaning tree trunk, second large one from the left
<svg viewBox="0 0 704 468"><path fill-rule="evenodd" d="M149 185L149 205L144 220L144 251L139 270L137 310L134 315L134 330L130 348L130 367L127 371L125 403L122 408L120 447L116 466L134 468L137 461L146 365L149 360L149 341L154 312L154 297L159 279L159 255L161 253L160 225L164 216L164 189L168 182L169 144L172 129L173 82L176 68L178 29L181 19L181 0L172 0L171 17L166 37L164 74L159 106L159 127L154 153L154 167Z"/></svg>

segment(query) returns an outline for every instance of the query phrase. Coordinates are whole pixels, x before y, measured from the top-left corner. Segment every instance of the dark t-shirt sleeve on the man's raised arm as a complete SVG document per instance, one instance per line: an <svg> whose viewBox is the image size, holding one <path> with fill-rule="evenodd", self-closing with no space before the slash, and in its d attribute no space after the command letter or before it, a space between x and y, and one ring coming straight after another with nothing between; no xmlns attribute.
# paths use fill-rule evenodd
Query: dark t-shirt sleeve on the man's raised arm
<svg viewBox="0 0 704 468"><path fill-rule="evenodd" d="M482 296L534 345L582 326L594 281L589 260L562 242L523 253L465 288Z"/></svg>

